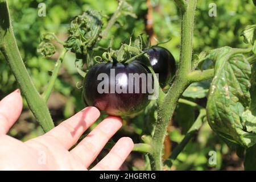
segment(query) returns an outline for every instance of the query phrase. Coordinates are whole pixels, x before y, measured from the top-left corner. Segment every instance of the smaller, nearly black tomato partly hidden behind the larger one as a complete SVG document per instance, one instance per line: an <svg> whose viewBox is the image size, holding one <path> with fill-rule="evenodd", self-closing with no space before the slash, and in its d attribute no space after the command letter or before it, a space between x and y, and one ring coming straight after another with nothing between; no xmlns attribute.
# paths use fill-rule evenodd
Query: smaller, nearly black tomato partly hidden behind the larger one
<svg viewBox="0 0 256 182"><path fill-rule="evenodd" d="M155 73L159 74L159 85L163 88L170 83L176 72L174 56L163 47L152 47L147 51Z"/></svg>

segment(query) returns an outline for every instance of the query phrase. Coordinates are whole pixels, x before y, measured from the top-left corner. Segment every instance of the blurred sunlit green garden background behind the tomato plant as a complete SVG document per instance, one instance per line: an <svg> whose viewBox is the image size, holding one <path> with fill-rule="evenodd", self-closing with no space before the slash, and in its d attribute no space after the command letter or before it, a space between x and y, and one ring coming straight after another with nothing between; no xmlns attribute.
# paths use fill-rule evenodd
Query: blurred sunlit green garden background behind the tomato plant
<svg viewBox="0 0 256 182"><path fill-rule="evenodd" d="M45 17L38 16L38 4L41 2L46 4ZM133 5L137 18L132 18L131 16L120 17L115 26L111 28L108 38L101 40L101 46L108 47L113 35L113 47L119 48L121 43L129 43L131 35L135 38L139 34L146 32L151 36L152 42L156 42L156 40L158 42L166 42L166 40L171 39L170 42L162 44L162 46L172 52L178 63L180 15L175 3L169 0L130 0L128 2ZM212 2L199 0L197 3L194 55L203 50L222 46L246 47L246 44L242 42L240 33L246 25L255 24L256 11L253 2L248 0L214 1L217 5L217 16L210 17L208 15L209 3ZM59 51L50 59L44 59L36 51L40 43L40 36L46 32L55 32L61 40L66 40L67 28L74 16L80 15L88 9L101 11L106 17L111 16L117 8L117 2L115 0L13 0L9 1L9 6L19 50L22 53L32 81L42 93L46 89L61 47L57 47ZM150 24L150 22L153 22L153 24ZM156 40L152 36L155 36ZM84 108L81 89L79 89L81 82L82 77L75 68L75 55L68 53L57 78L54 92L48 101L48 107L55 125ZM205 106L208 86L209 83L207 81L193 84L189 86L183 96L187 100L195 101L201 106ZM15 78L3 56L0 55L0 98L5 97L16 88L18 88L18 85L15 82ZM172 148L183 139L184 133L195 121L198 114L195 107L186 104L177 106L173 121L168 129L165 156L170 155ZM155 113L147 113L134 118L124 118L123 127L114 136L113 140L129 136L135 143L140 142L141 136L148 134L146 129L148 125L145 123L145 117L155 117ZM100 119L98 122L100 122ZM25 141L42 134L43 130L36 123L24 100L22 115L13 129L11 129L10 135ZM210 165L208 163L210 151L217 152L217 164ZM104 152L101 155L103 156ZM133 152L122 168L147 169L147 163L144 161L142 154ZM203 127L175 160L172 169L239 170L243 169L243 166L242 160L237 156L236 151L226 146L212 132L208 123L204 122Z"/></svg>

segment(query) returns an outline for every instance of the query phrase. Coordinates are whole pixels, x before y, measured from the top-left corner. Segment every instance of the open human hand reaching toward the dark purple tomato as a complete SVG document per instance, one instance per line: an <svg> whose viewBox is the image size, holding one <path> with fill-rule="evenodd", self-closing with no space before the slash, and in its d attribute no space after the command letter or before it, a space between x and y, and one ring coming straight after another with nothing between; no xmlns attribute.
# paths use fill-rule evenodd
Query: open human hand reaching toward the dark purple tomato
<svg viewBox="0 0 256 182"><path fill-rule="evenodd" d="M22 97L15 90L0 101L0 169L2 170L86 170L108 140L122 126L122 119L107 117L75 148L68 151L100 116L96 107L86 107L48 133L21 142L6 135L22 111ZM92 170L117 170L133 149L123 137Z"/></svg>

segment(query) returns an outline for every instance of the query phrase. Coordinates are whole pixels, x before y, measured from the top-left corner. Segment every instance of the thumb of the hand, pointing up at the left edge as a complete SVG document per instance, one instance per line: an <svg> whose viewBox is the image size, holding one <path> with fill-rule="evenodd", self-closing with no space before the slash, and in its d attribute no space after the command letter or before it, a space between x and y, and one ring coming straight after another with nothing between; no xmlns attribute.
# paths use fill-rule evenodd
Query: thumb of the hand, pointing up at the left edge
<svg viewBox="0 0 256 182"><path fill-rule="evenodd" d="M6 134L22 112L22 97L19 89L0 101L0 134Z"/></svg>

